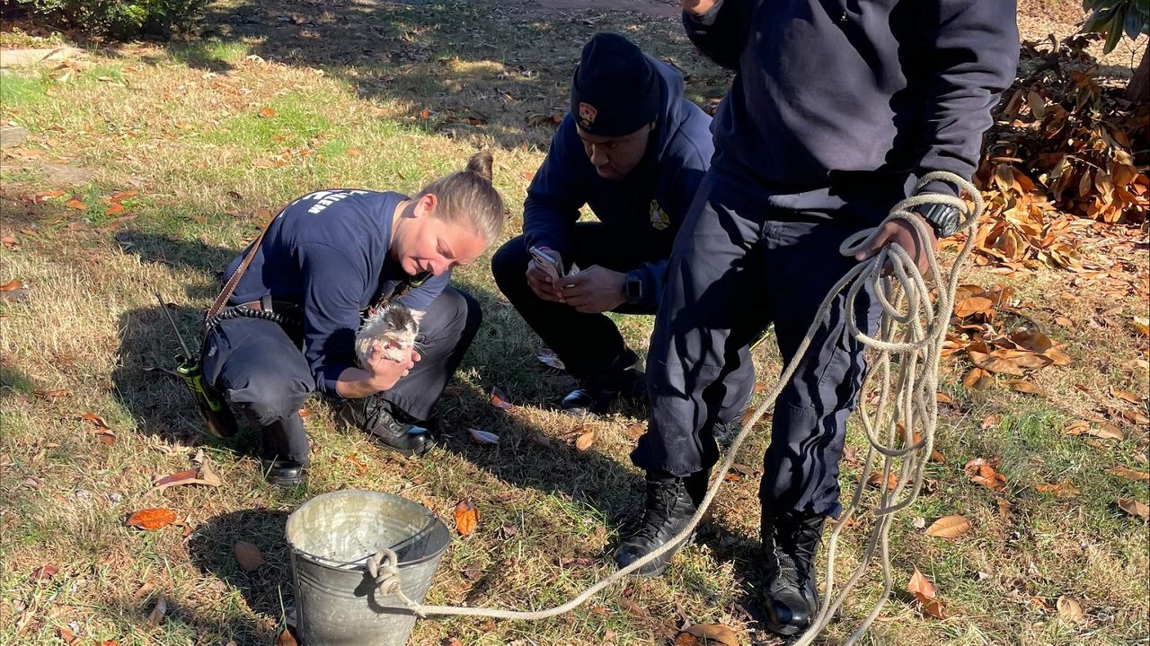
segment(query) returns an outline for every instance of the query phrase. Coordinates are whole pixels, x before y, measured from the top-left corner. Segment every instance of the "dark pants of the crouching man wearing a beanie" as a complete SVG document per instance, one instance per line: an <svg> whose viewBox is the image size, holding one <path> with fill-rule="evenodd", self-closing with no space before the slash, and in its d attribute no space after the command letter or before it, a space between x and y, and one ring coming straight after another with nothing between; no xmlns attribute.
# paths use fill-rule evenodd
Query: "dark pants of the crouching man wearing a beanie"
<svg viewBox="0 0 1150 646"><path fill-rule="evenodd" d="M577 264L588 268L592 264L605 267L613 271L630 271L644 261L630 248L629 241L612 234L611 230L599 222L580 222L572 226L570 257L564 259L569 269ZM604 314L582 314L561 302L545 301L531 291L527 284L527 266L531 255L522 236L512 238L496 252L491 259L491 272L494 275L499 291L515 307L527 324L555 355L562 360L567 371L577 379L592 377L613 367L627 368L635 363L635 353L627 347L615 323ZM623 305L614 312L619 314L654 314L654 305ZM728 377L730 383L738 382L735 389L739 397L733 397L722 405L728 412L721 417L723 422L737 420L750 398L754 385L754 370L750 361L742 363L743 369ZM733 392L735 392L733 391Z"/></svg>

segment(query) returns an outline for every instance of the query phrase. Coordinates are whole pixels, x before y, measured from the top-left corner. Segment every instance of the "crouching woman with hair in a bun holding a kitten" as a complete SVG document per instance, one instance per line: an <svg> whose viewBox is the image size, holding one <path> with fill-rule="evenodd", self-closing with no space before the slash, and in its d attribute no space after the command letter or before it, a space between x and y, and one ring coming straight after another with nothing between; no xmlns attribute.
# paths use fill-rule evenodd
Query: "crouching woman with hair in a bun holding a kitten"
<svg viewBox="0 0 1150 646"><path fill-rule="evenodd" d="M384 447L404 455L428 447L420 421L480 325L475 299L447 285L451 270L483 254L504 217L491 155L478 153L467 170L414 198L353 190L304 195L231 262L229 277L254 247L229 309L209 317L204 376L260 426L269 482L301 482L308 443L299 408L315 390ZM417 348L396 361L377 344L356 362L361 313L384 300L424 313Z"/></svg>

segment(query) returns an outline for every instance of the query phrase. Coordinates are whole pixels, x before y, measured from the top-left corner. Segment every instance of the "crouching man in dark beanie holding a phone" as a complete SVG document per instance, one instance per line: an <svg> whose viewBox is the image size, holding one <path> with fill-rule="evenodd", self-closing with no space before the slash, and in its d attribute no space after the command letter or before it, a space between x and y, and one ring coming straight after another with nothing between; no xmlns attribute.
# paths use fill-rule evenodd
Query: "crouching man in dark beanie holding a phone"
<svg viewBox="0 0 1150 646"><path fill-rule="evenodd" d="M499 290L580 382L560 403L566 412L600 413L620 395L645 394L638 356L604 313L654 314L662 299L672 243L713 153L711 117L682 92L675 69L622 36L595 34L575 68L570 111L528 187L523 234L491 260ZM583 205L599 222L576 222ZM552 277L531 247L559 274L581 271ZM736 378L750 384L750 364Z"/></svg>

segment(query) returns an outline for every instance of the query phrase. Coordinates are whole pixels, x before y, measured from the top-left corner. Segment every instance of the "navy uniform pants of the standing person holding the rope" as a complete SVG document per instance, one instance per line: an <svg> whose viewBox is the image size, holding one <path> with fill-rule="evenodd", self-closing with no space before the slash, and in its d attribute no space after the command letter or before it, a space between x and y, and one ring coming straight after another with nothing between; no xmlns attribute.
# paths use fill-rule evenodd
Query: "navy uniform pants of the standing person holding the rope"
<svg viewBox="0 0 1150 646"><path fill-rule="evenodd" d="M749 366L747 346L773 323L783 361L795 356L822 299L856 263L838 245L876 225L900 190L772 193L712 168L672 253L647 363L651 421L631 454L636 466L687 476L718 461L705 429L728 391L742 387L730 377ZM873 294L859 299L860 328L873 330ZM865 372L844 300L775 402L759 490L765 510L841 510L838 460Z"/></svg>

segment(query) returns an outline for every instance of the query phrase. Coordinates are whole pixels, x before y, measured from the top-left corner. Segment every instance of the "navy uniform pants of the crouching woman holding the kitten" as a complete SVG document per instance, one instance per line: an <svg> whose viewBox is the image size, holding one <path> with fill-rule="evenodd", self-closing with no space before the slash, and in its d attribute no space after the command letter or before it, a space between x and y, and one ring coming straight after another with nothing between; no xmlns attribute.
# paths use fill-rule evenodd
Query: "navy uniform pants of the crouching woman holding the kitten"
<svg viewBox="0 0 1150 646"><path fill-rule="evenodd" d="M420 323L421 360L381 397L425 420L471 345L480 320L480 303L470 294L446 287ZM204 376L232 410L261 429L260 457L308 462L299 409L315 390L315 379L297 336L261 318L224 321L204 341Z"/></svg>

